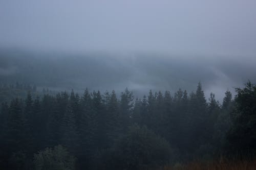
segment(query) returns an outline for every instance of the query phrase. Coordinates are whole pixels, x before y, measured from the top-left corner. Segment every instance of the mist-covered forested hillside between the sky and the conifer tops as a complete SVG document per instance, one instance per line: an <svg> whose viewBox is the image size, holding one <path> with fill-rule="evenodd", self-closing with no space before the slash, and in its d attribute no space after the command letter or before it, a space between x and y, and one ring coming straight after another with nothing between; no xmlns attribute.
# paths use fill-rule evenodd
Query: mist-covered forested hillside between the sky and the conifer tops
<svg viewBox="0 0 256 170"><path fill-rule="evenodd" d="M210 92L222 100L224 92L240 87L250 79L256 82L256 69L250 60L243 62L227 57L179 56L145 53L35 53L1 50L1 83L36 84L38 88L65 91L76 89L82 93L115 89L120 93L125 87L134 96L142 98L153 91L193 91L197 83L204 84L207 99ZM228 65L228 66L227 66Z"/></svg>

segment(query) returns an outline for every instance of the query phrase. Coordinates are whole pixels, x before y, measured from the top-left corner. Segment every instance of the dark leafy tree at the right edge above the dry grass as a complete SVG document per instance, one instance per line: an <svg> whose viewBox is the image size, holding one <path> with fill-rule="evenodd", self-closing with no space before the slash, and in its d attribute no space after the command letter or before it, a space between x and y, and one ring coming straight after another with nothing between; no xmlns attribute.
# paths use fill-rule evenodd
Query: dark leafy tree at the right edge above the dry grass
<svg viewBox="0 0 256 170"><path fill-rule="evenodd" d="M256 85L249 81L237 88L232 128L228 132L228 148L232 152L254 153L256 151Z"/></svg>

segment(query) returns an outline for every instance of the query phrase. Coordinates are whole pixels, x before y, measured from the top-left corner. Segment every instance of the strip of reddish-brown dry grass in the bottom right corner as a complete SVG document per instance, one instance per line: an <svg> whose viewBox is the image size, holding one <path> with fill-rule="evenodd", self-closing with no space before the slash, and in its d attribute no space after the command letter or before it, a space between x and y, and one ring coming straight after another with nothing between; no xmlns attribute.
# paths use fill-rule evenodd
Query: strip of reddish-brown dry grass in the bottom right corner
<svg viewBox="0 0 256 170"><path fill-rule="evenodd" d="M194 161L186 165L175 164L174 166L165 165L159 170L255 170L256 159L253 161L218 161L200 162Z"/></svg>

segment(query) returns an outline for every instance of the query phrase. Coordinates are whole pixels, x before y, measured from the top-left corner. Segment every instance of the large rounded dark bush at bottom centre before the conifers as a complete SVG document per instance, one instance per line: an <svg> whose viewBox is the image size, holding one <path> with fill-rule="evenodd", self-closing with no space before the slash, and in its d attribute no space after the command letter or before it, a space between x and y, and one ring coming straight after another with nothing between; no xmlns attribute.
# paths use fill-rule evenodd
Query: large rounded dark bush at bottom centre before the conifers
<svg viewBox="0 0 256 170"><path fill-rule="evenodd" d="M173 152L169 143L146 127L134 125L116 145L102 154L99 169L142 169L167 163Z"/></svg>

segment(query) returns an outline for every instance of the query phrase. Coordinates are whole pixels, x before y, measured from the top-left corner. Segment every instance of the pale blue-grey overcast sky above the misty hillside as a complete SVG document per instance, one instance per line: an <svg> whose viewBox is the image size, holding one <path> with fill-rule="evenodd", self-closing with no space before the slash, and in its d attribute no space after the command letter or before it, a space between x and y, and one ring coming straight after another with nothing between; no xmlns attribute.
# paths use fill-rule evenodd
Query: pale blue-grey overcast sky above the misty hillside
<svg viewBox="0 0 256 170"><path fill-rule="evenodd" d="M254 56L255 0L0 1L0 46Z"/></svg>

